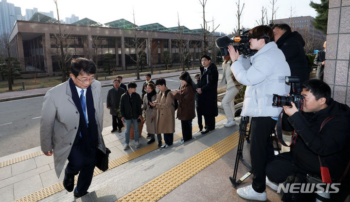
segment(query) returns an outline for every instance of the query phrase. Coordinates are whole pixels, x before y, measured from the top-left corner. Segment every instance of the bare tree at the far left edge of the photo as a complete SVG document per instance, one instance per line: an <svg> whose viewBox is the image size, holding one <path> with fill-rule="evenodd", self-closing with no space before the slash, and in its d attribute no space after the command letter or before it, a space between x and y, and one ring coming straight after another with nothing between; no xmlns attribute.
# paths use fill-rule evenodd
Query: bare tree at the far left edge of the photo
<svg viewBox="0 0 350 202"><path fill-rule="evenodd" d="M2 36L0 36L0 57L3 61L6 60L7 82L8 82L9 91L12 91L11 47L12 47L12 44L10 43L10 34L5 32Z"/></svg>

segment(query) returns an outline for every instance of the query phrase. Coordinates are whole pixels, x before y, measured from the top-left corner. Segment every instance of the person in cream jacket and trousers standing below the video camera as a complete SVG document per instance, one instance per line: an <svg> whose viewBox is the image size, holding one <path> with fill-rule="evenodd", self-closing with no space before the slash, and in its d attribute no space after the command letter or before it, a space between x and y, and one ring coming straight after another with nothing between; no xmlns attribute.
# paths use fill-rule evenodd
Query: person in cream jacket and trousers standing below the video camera
<svg viewBox="0 0 350 202"><path fill-rule="evenodd" d="M227 118L227 123L224 123L224 126L231 127L236 124L234 120L234 112L235 112L234 98L238 93L239 85L230 69L230 66L232 64L231 58L229 57L229 55L223 55L222 57L225 61L222 63L223 77L220 82L220 87L226 86L227 91L224 98L221 101L221 104L224 108L225 115Z"/></svg>

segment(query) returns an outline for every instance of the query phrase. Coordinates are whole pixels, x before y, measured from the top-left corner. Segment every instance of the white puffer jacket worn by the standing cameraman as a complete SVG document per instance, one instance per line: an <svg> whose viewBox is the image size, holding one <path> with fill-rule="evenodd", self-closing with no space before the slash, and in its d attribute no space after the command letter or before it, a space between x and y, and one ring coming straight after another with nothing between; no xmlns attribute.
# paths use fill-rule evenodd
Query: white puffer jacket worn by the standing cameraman
<svg viewBox="0 0 350 202"><path fill-rule="evenodd" d="M290 87L285 77L290 76L288 63L275 42L267 43L249 59L240 57L231 71L238 82L246 85L241 116L277 117L282 108L272 106L273 94L286 95Z"/></svg>

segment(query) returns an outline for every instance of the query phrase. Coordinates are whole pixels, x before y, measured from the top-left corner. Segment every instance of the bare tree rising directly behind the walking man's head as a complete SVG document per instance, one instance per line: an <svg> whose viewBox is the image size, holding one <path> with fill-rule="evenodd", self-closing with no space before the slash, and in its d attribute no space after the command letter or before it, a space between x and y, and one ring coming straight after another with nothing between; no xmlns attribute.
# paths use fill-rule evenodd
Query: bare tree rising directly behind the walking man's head
<svg viewBox="0 0 350 202"><path fill-rule="evenodd" d="M58 52L54 52L54 55L56 55L59 59L58 59L58 65L61 69L62 72L62 83L66 81L67 79L67 72L68 72L68 62L70 62L71 58L72 58L72 54L69 53L68 51L68 47L69 44L71 42L67 42L66 39L70 40L70 34L67 33L66 29L64 28L62 30L61 28L61 23L60 23L60 19L59 19L59 13L58 13L58 5L57 5L57 0L53 0L53 2L56 5L56 11L57 11L57 23L58 23L58 34L56 34L55 31L54 32L54 36L56 38L56 47L59 48L59 53Z"/></svg>

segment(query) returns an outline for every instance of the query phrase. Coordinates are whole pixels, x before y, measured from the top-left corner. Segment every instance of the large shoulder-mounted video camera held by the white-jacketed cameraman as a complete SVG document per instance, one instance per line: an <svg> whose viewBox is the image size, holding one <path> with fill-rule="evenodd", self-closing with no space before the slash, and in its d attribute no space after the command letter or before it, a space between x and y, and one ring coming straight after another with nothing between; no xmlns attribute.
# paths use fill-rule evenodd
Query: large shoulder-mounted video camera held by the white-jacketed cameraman
<svg viewBox="0 0 350 202"><path fill-rule="evenodd" d="M216 47L220 48L220 52L222 56L229 55L228 46L231 43L240 44L240 45L233 45L233 47L235 48L235 50L238 50L239 54L241 54L244 58L249 58L257 52L257 50L250 49L250 44L249 44L250 38L247 35L249 30L244 32L240 30L239 32L241 33L240 36L234 36L232 38L229 38L228 36L222 36L215 40Z"/></svg>

